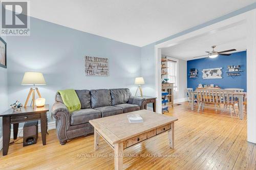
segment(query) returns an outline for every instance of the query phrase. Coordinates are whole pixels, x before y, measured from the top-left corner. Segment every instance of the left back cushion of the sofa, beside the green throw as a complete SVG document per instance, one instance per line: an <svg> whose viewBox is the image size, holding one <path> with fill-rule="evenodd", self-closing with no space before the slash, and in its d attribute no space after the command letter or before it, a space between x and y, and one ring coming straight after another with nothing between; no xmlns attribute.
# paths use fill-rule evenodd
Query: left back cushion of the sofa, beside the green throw
<svg viewBox="0 0 256 170"><path fill-rule="evenodd" d="M81 103L81 109L91 108L90 90L75 90Z"/></svg>

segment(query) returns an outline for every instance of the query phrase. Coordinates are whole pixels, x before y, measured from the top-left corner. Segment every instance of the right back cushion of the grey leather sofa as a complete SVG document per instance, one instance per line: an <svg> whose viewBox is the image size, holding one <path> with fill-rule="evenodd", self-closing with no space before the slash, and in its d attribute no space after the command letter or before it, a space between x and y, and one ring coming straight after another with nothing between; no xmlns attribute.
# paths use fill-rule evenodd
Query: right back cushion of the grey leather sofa
<svg viewBox="0 0 256 170"><path fill-rule="evenodd" d="M112 98L112 106L127 103L130 96L132 95L131 91L127 88L110 89L110 92Z"/></svg>

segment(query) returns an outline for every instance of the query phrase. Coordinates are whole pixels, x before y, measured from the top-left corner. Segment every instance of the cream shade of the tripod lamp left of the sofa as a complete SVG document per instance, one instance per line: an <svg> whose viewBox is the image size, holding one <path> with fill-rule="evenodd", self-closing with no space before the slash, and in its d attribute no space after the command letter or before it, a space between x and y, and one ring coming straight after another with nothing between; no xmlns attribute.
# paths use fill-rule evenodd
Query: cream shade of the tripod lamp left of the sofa
<svg viewBox="0 0 256 170"><path fill-rule="evenodd" d="M46 81L41 72L25 72L22 85L46 85Z"/></svg>

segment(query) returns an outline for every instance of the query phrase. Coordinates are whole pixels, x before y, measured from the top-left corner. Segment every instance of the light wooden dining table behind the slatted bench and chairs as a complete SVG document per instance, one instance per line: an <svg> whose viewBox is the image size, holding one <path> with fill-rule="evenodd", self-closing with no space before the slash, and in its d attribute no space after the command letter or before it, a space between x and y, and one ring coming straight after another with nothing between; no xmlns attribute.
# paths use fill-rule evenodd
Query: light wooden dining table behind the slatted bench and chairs
<svg viewBox="0 0 256 170"><path fill-rule="evenodd" d="M200 89L197 89L200 90ZM194 110L194 104L195 104L195 99L196 99L196 95L197 95L197 90L196 91L192 91L192 96L191 96L191 110ZM220 96L221 93L215 93L214 95L218 95ZM244 99L246 98L246 92L234 92L233 93L233 97L238 99L238 112L239 112L239 118L243 119L244 118Z"/></svg>

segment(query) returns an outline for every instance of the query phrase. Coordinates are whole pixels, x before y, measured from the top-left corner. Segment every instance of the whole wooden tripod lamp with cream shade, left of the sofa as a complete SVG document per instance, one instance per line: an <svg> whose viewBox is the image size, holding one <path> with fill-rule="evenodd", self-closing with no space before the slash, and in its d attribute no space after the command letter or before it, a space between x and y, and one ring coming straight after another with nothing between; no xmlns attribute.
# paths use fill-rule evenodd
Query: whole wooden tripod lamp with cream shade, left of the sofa
<svg viewBox="0 0 256 170"><path fill-rule="evenodd" d="M35 86L46 85L44 75L42 75L41 72L25 72L23 80L22 80L22 85L33 86L29 90L29 94L28 94L28 97L27 97L24 107L27 106L29 99L30 99L30 95L32 93L32 106L34 108L35 107L35 91L37 92L39 98L41 98L41 94L40 94L38 88Z"/></svg>

